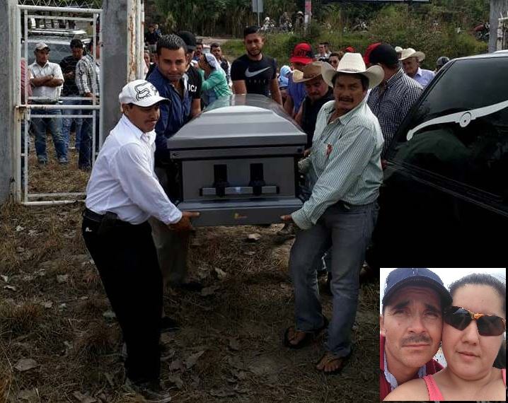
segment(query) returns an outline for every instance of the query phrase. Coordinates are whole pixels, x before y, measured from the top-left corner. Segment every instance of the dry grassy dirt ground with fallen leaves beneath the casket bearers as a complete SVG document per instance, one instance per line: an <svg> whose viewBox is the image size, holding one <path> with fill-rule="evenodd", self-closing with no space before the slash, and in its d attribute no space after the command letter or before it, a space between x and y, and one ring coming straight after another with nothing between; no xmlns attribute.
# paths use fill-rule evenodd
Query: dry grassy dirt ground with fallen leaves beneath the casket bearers
<svg viewBox="0 0 508 403"><path fill-rule="evenodd" d="M88 175L73 153L67 167L37 168L31 155L30 192L82 192ZM0 207L0 403L140 401L122 387L120 329L81 238L82 209ZM206 288L164 298L181 325L161 337L173 402L379 400L379 282L362 286L350 363L340 375L317 373L323 337L300 351L282 345L294 305L293 240L281 227L197 228L190 276ZM331 298L322 300L330 317Z"/></svg>

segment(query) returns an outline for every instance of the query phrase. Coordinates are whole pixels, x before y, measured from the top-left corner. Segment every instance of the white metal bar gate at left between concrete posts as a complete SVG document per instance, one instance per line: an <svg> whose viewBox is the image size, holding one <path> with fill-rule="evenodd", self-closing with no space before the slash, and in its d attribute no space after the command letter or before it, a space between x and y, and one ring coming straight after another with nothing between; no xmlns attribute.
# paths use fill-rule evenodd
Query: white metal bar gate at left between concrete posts
<svg viewBox="0 0 508 403"><path fill-rule="evenodd" d="M18 4L16 6L16 44L18 52L16 52L16 202L28 205L47 205L47 204L67 204L83 199L85 195L86 182L89 173L82 172L76 166L76 155L69 149L70 143L66 145L67 153L71 151L69 163L64 165L64 160L55 161L54 158L44 164L40 160L40 164L35 165L35 161L39 155L35 149L35 138L38 140L39 150L42 144L45 144L47 157L48 151L52 150L49 141L57 148L57 133L54 133L54 127L62 127L64 119L83 119L86 121L86 128L91 127L91 164L95 161L98 149L103 142L103 133L100 124L103 119L103 110L98 98L91 98L91 102L86 102L82 96L60 96L54 102L47 102L46 98L28 96L28 86L30 85L30 77L22 77L22 63L25 64L25 71L28 73L30 61L33 58L33 52L37 42L47 41L47 37L54 35L63 35L67 38L68 44L72 37L67 33L69 30L46 29L47 21L54 25L54 21L67 26L70 21L72 25L88 24L88 30L91 28L91 42L93 42L93 62L97 64L96 46L102 45L102 30L100 29L100 21L102 20L102 10L97 8L71 8L71 7L51 7L51 6L29 6ZM42 14L44 13L44 14ZM36 23L35 28L40 28L40 21L45 21L44 29L35 33L33 21ZM38 24L38 25L37 25ZM49 23L48 23L49 24ZM70 24L69 24L70 27ZM40 32L42 31L42 33ZM66 36L67 35L67 36ZM51 49L51 45L48 44ZM71 48L68 45L69 54ZM23 62L24 60L24 62ZM51 51L50 51L51 62ZM99 69L99 96L103 94L103 77ZM93 69L93 78L95 82L96 71ZM24 93L21 91L21 81L24 80ZM60 88L61 90L62 88ZM22 102L23 100L23 102ZM58 112L60 111L60 112ZM72 112L68 112L72 111ZM64 115L62 112L67 112ZM54 119L54 120L53 120ZM86 120L88 119L88 120ZM50 123L47 123L50 122ZM38 124L34 137L30 130L30 124ZM48 131L48 126L50 130ZM41 132L42 128L42 132ZM57 131L56 131L57 132ZM22 141L23 139L23 141ZM34 139L34 141L31 141ZM62 134L60 134L60 140ZM70 139L69 139L70 141ZM61 146L59 147L62 150ZM58 162L58 165L56 164Z"/></svg>

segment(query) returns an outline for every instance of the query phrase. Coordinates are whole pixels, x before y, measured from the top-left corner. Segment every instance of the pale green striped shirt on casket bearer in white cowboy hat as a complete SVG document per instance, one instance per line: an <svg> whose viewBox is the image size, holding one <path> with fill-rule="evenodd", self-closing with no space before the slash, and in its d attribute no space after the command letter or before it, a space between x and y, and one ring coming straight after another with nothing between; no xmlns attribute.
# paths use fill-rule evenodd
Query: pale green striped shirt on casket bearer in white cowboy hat
<svg viewBox="0 0 508 403"><path fill-rule="evenodd" d="M301 172L308 174L312 194L291 217L304 230L337 202L355 206L375 202L383 182L383 135L366 100L328 123L334 110L335 100L323 105L311 153L299 162Z"/></svg>

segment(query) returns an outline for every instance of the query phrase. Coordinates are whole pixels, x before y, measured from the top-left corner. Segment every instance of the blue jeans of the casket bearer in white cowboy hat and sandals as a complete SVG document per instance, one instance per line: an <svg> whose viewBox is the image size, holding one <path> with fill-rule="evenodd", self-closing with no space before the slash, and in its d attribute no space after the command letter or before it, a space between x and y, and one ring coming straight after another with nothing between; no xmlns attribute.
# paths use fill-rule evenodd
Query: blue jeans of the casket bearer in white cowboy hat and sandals
<svg viewBox="0 0 508 403"><path fill-rule="evenodd" d="M294 286L296 329L310 332L323 326L316 265L331 247L333 313L325 349L334 356L351 352L351 329L357 313L359 272L377 219L377 203L328 207L316 225L299 230L289 255Z"/></svg>

